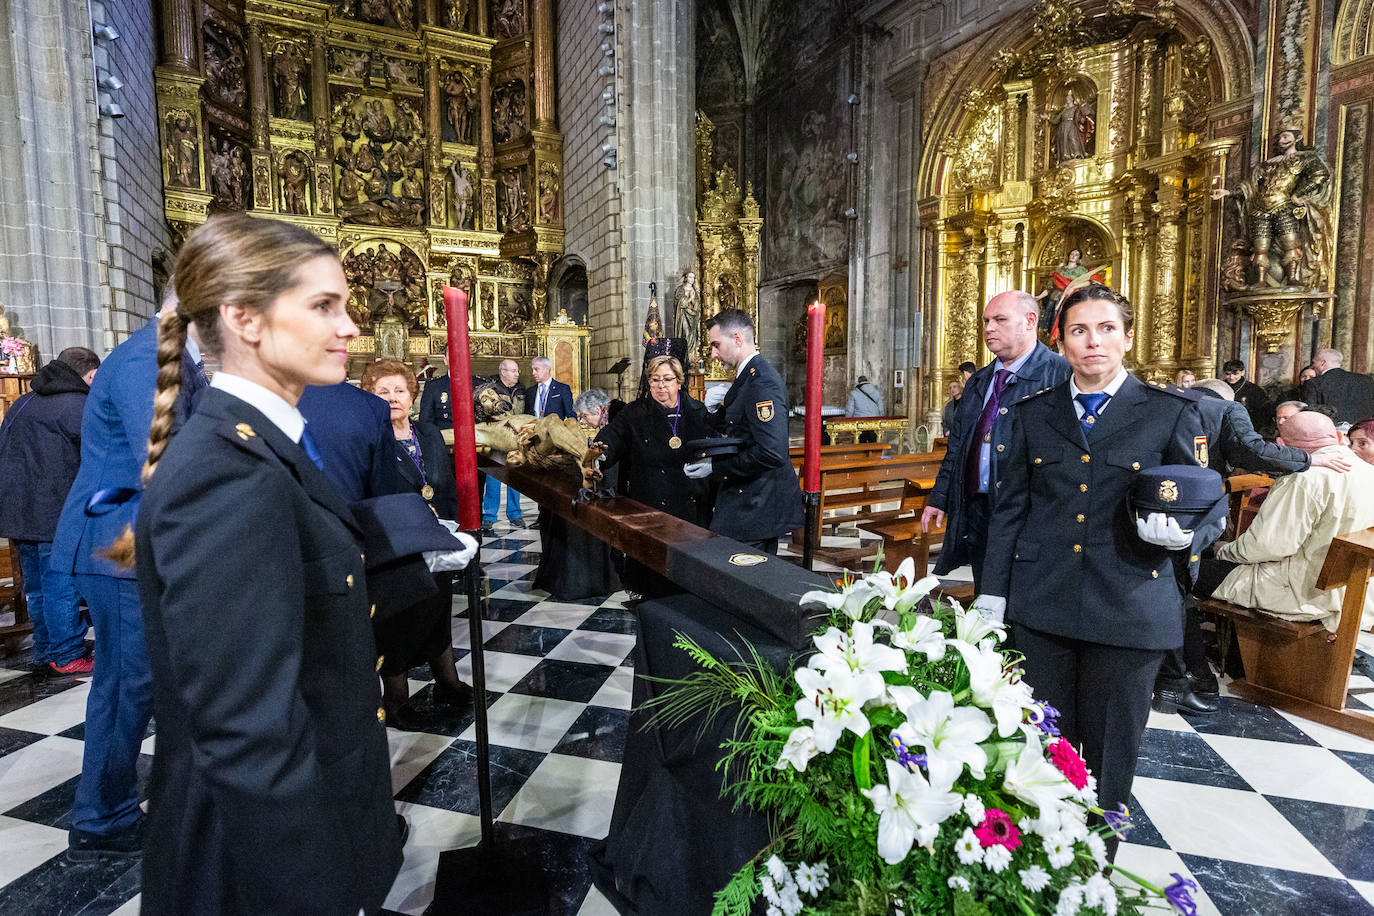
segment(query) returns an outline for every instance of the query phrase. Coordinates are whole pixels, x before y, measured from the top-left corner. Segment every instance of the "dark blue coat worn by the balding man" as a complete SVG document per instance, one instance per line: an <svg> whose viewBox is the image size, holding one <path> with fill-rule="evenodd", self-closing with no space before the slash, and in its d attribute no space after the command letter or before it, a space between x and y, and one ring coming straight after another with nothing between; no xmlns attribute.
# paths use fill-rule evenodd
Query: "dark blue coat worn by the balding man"
<svg viewBox="0 0 1374 916"><path fill-rule="evenodd" d="M940 472L936 475L936 485L926 500L929 505L941 509L945 515L945 538L936 560L936 574L944 575L951 570L971 560L969 545L969 507L965 489L965 468L969 461L969 449L977 449L982 444L974 442L978 430L978 417L982 416L982 401L988 386L993 383L1000 361L993 360L971 376L963 389L963 397L955 401L952 428L945 430L945 456L940 461ZM1044 343L1036 341L1035 350L1015 376L1007 380L1002 391L1002 407L998 419L992 424L989 439L989 470L988 470L988 500L989 508L996 505L996 479L999 468L1006 455L1011 424L1009 422L1010 405L1017 400L1063 382L1069 378L1069 364L1062 356L1052 352Z"/></svg>

